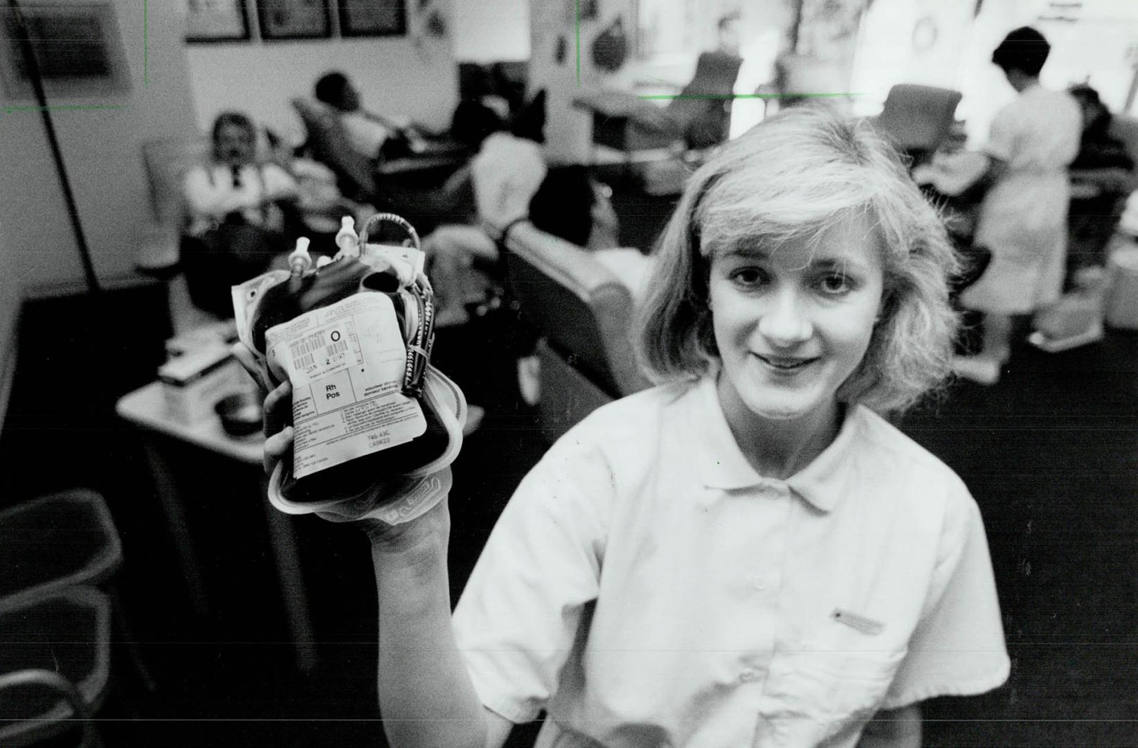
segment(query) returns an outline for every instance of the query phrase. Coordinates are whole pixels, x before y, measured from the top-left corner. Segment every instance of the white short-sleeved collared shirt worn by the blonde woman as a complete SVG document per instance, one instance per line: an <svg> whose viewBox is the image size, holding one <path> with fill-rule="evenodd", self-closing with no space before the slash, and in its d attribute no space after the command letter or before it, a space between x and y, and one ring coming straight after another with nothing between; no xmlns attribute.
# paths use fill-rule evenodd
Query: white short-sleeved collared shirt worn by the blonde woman
<svg viewBox="0 0 1138 748"><path fill-rule="evenodd" d="M483 702L539 748L853 746L1007 677L980 512L869 410L760 477L710 378L607 405L503 511L454 615Z"/></svg>

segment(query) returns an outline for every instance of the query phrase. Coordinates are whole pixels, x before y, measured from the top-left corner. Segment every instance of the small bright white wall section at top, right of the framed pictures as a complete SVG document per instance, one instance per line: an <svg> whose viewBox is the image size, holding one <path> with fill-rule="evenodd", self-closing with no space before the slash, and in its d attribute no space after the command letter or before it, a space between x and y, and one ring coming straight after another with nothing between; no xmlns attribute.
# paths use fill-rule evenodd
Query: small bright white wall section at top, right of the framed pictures
<svg viewBox="0 0 1138 748"><path fill-rule="evenodd" d="M528 0L454 0L454 59L529 59Z"/></svg>

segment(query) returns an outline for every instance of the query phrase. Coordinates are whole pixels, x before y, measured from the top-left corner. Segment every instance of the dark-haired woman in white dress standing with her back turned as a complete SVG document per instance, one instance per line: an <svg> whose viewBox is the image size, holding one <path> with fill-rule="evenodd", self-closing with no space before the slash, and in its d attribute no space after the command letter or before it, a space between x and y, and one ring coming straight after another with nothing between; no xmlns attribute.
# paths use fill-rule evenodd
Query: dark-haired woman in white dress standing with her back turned
<svg viewBox="0 0 1138 748"><path fill-rule="evenodd" d="M992 183L984 196L975 244L992 253L984 274L960 302L984 313L981 352L957 357L956 372L995 384L1011 353L1012 317L1059 297L1066 261L1067 165L1079 153L1082 120L1065 92L1039 84L1050 46L1034 28L1008 33L992 52L1020 96L992 121L984 151Z"/></svg>

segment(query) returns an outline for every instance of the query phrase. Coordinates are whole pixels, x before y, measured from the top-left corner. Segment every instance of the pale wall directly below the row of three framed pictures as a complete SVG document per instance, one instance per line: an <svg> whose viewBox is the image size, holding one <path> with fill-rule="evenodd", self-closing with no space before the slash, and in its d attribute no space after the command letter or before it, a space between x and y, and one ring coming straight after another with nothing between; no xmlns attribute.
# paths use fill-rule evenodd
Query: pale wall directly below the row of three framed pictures
<svg viewBox="0 0 1138 748"><path fill-rule="evenodd" d="M409 0L407 6L417 3ZM451 10L446 3L436 5ZM255 23L255 14L250 19ZM415 28L415 19L409 18L409 30ZM462 31L453 14L448 28L447 38L426 39L418 48L411 34L187 44L197 125L207 130L218 112L240 109L299 142L304 130L289 100L311 96L318 77L339 69L355 82L368 109L445 128L459 89L452 44Z"/></svg>

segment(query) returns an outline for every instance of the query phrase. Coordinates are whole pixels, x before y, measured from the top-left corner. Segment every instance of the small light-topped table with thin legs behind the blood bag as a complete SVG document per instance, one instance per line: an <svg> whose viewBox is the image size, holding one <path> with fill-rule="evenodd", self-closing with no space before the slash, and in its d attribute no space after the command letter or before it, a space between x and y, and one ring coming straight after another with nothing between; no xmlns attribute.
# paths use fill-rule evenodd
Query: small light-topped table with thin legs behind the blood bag
<svg viewBox="0 0 1138 748"><path fill-rule="evenodd" d="M115 404L119 418L148 431L162 434L175 442L203 449L234 462L255 467L261 471L261 453L263 436L254 434L248 437L234 437L225 433L221 421L212 417L193 426L168 418L163 404L163 384L154 381L145 387L123 396ZM178 551L182 574L189 586L190 600L199 616L208 613L208 600L205 584L201 580L201 565L190 537L185 521L184 501L179 493L176 480L173 479L165 453L159 449L158 439L143 439L147 461L154 474L162 501L166 521ZM312 616L308 610L308 595L300 575L299 554L297 552L296 534L292 531L291 518L283 515L269 503L264 490L266 482L262 479L262 505L269 525L273 560L277 567L277 581L288 618L289 634L296 652L297 666L311 671L316 665L316 654L312 634Z"/></svg>

